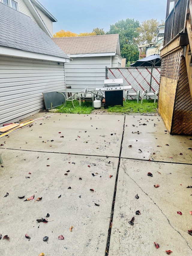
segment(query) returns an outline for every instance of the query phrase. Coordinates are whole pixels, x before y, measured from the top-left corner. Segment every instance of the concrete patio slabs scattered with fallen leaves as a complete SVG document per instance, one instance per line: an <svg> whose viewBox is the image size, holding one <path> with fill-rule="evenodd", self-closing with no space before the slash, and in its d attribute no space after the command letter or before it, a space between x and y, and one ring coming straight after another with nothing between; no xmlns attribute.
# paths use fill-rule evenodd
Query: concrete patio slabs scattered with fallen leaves
<svg viewBox="0 0 192 256"><path fill-rule="evenodd" d="M0 255L191 255L192 140L160 116L56 114L0 144Z"/></svg>

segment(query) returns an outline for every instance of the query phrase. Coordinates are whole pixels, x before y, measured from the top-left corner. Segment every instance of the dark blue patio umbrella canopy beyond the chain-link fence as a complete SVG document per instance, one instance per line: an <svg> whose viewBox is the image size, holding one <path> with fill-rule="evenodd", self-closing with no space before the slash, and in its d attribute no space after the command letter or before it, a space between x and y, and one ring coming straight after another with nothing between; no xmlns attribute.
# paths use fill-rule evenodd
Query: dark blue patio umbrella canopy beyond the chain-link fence
<svg viewBox="0 0 192 256"><path fill-rule="evenodd" d="M161 67L161 58L159 54L150 55L139 59L130 65L131 67Z"/></svg>

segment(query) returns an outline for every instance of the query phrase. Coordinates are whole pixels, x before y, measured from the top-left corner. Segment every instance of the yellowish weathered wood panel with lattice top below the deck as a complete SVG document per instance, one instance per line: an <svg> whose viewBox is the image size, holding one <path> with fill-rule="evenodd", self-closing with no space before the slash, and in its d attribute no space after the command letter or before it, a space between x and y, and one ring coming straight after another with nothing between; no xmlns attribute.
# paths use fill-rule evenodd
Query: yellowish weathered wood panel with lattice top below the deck
<svg viewBox="0 0 192 256"><path fill-rule="evenodd" d="M182 53L183 50L180 48L179 50L163 57L161 62L161 83L159 89L158 111L169 133L171 132L173 122L173 108Z"/></svg>

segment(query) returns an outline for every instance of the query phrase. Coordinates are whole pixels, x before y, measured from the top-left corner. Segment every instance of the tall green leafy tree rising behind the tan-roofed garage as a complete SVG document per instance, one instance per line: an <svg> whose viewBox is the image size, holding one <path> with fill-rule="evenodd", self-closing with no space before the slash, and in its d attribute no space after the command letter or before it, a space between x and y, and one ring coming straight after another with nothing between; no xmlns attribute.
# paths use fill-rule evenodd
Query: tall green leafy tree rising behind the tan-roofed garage
<svg viewBox="0 0 192 256"><path fill-rule="evenodd" d="M135 38L138 37L140 23L138 20L119 20L114 25L110 25L110 30L106 34L119 34L121 56L128 61L139 59L139 50Z"/></svg>

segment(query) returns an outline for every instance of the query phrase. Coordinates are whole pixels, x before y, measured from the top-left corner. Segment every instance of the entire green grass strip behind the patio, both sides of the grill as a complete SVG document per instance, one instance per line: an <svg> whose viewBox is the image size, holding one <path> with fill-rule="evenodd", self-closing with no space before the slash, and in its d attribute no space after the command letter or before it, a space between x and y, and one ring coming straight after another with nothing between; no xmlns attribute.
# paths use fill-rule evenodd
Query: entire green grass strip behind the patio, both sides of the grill
<svg viewBox="0 0 192 256"><path fill-rule="evenodd" d="M137 104L137 100L129 100L123 102L123 107L120 105L109 107L108 112L113 113L156 113L157 102L154 104L154 100L143 100L143 104L140 102ZM75 108L71 101L67 101L65 107L63 105L56 107L58 113L70 113L70 114L91 114L94 107L92 102L85 101L79 106L79 101L73 101Z"/></svg>

